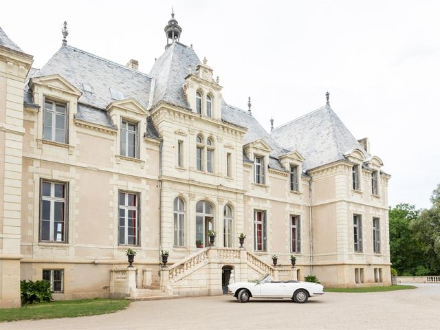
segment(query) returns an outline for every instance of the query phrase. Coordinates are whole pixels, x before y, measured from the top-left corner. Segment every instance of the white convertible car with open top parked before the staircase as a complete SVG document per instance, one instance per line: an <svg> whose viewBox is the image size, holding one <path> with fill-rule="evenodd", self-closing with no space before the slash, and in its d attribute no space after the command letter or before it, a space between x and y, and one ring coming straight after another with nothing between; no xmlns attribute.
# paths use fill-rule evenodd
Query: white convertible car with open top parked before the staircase
<svg viewBox="0 0 440 330"><path fill-rule="evenodd" d="M252 298L291 298L295 303L305 303L309 297L324 294L324 287L317 283L298 281L273 281L266 274L256 282L238 282L228 285L228 293L240 303L248 303Z"/></svg>

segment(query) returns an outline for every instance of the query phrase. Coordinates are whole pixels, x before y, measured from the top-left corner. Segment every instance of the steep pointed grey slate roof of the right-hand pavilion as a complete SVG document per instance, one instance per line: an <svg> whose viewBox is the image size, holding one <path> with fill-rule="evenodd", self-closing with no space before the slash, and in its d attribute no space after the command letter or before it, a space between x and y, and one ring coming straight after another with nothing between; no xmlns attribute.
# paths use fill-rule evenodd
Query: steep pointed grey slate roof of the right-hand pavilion
<svg viewBox="0 0 440 330"><path fill-rule="evenodd" d="M354 148L369 157L338 115L327 106L277 127L271 136L284 148L298 150L305 157L305 170L345 159L344 153Z"/></svg>

